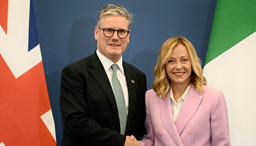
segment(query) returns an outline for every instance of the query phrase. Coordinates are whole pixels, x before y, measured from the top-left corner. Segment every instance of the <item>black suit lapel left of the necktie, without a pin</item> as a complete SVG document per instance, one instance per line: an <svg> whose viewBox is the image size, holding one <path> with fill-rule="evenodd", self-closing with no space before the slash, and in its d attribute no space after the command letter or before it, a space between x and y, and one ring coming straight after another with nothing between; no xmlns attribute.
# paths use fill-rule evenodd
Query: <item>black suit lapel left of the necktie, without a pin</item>
<svg viewBox="0 0 256 146"><path fill-rule="evenodd" d="M93 55L91 55L90 66L93 67L90 70L91 74L93 75L95 80L98 82L98 84L102 88L102 90L105 92L105 94L108 97L109 102L112 105L114 112L119 120L116 99L114 97L114 93L113 93L111 84L109 82L108 76L103 68L101 61L99 60L99 58L96 54L96 51L94 52Z"/></svg>

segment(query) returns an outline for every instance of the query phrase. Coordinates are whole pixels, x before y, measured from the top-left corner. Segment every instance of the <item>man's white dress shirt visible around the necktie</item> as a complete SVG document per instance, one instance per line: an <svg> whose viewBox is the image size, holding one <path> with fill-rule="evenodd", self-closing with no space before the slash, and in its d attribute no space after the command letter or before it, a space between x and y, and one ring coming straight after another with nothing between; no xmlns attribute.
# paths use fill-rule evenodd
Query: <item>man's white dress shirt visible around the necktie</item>
<svg viewBox="0 0 256 146"><path fill-rule="evenodd" d="M102 65L105 69L106 74L108 75L109 82L110 82L112 90L113 90L113 86L112 86L113 70L111 68L111 65L115 64L115 63L113 61L109 60L108 58L106 58L103 54L101 54L98 49L96 50L96 53L97 53L97 55L99 57L99 60L101 61ZM129 96L128 96L127 82L126 82L125 74L124 74L122 56L116 62L116 64L118 65L117 70L116 70L117 78L118 78L118 80L119 80L119 82L122 86L122 89L123 89L126 111L127 111L127 115L128 115L128 106L129 106L129 98L128 97Z"/></svg>

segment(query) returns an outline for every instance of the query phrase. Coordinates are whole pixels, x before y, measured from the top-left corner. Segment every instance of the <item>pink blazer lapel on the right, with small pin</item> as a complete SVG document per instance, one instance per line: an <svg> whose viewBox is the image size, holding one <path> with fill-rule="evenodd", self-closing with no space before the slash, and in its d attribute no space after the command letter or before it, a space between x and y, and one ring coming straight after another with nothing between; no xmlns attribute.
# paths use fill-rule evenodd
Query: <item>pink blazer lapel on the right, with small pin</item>
<svg viewBox="0 0 256 146"><path fill-rule="evenodd" d="M192 116L195 114L202 99L203 96L198 96L198 92L191 85L175 122L179 135L184 130Z"/></svg>

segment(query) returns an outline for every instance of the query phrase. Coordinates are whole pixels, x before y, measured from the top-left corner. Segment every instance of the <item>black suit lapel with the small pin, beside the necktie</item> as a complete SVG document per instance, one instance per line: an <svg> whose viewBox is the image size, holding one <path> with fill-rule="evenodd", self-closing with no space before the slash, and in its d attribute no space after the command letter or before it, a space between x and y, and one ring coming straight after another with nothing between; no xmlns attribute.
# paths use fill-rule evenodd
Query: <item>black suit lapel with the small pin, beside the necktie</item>
<svg viewBox="0 0 256 146"><path fill-rule="evenodd" d="M131 68L129 68L128 64L123 61L123 67L124 67L124 74L125 74L125 80L127 83L128 88L128 96L129 96L129 107L128 107L128 115L127 115L127 126L126 131L128 131L132 117L133 117L133 110L136 102L136 84L132 83L132 80L135 80L135 75L132 73ZM135 80L136 82L136 80Z"/></svg>

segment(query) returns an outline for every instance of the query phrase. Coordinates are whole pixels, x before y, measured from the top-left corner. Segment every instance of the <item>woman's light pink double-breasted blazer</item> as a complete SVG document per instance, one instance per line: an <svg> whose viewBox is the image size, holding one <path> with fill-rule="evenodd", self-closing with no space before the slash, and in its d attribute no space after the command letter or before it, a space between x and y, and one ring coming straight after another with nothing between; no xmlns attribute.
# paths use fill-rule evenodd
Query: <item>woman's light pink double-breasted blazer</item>
<svg viewBox="0 0 256 146"><path fill-rule="evenodd" d="M199 93L190 87L175 123L170 91L163 98L153 89L147 91L147 135L139 141L140 146L230 146L224 95L204 85L203 89Z"/></svg>

